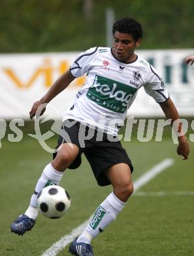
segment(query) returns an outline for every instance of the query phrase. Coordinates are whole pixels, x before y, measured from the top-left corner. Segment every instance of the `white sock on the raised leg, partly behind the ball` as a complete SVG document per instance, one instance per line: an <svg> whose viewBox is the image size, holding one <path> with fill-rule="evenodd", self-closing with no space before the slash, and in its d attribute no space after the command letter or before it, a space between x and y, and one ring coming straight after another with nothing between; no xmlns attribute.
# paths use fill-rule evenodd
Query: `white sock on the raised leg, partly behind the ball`
<svg viewBox="0 0 194 256"><path fill-rule="evenodd" d="M62 177L63 177L63 172L57 171L56 169L54 169L54 167L52 166L51 163L46 165L46 167L44 168L44 170L42 172L42 175L40 176L39 181L37 182L37 185L35 187L35 192L31 196L30 206L27 209L27 211L25 211L25 215L27 215L28 217L30 217L32 219L37 218L37 215L38 215L38 211L36 209L37 208L37 197L38 197L40 191L45 186L49 186L52 184L54 184L54 185L59 184Z"/></svg>

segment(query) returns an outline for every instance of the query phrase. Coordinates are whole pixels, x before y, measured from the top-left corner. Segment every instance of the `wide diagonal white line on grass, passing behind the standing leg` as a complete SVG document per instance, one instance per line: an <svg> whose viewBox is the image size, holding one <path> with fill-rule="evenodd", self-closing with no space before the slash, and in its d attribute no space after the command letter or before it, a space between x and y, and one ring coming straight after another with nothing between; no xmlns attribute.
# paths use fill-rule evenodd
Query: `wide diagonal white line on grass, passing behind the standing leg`
<svg viewBox="0 0 194 256"><path fill-rule="evenodd" d="M174 164L173 159L165 159L152 167L150 171L147 171L142 175L140 178L137 179L137 181L133 182L133 186L135 188L135 191L140 189L142 186L144 186L146 183L154 179L155 176L157 176L159 173L170 167ZM84 221L84 223L80 224L77 228L74 228L70 234L67 234L63 236L59 241L54 243L50 248L48 248L41 256L55 256L59 251L64 249L69 243L73 242L74 238L76 236L79 236L80 233L86 228L90 221L91 217L87 221Z"/></svg>

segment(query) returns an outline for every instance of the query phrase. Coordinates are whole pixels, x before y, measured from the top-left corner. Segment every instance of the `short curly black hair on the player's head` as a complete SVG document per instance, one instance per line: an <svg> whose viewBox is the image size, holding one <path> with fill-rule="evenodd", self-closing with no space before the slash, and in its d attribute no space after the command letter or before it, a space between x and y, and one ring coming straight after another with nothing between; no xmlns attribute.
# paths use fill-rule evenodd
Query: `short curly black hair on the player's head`
<svg viewBox="0 0 194 256"><path fill-rule="evenodd" d="M142 37L142 26L134 18L121 18L117 20L112 27L112 33L118 31L120 33L130 33L133 35L133 39L137 41L138 38Z"/></svg>

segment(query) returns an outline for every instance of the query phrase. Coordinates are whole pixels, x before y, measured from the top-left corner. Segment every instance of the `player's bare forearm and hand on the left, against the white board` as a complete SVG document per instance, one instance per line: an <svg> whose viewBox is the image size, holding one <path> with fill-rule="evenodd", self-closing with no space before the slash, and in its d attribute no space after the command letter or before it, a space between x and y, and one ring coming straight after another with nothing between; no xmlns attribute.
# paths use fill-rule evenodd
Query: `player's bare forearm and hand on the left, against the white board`
<svg viewBox="0 0 194 256"><path fill-rule="evenodd" d="M30 118L32 119L36 115L37 108L39 108L39 106L41 104L50 102L50 100L52 100L55 96L57 96L59 93L61 93L61 91L63 91L65 88L67 88L68 85L74 80L74 78L75 77L71 74L70 70L68 70L63 75L61 75L54 82L52 87L50 87L50 89L48 90L46 95L44 95L40 100L36 101L33 104L31 111L29 112ZM40 115L42 115L45 110L46 110L46 108L43 108Z"/></svg>

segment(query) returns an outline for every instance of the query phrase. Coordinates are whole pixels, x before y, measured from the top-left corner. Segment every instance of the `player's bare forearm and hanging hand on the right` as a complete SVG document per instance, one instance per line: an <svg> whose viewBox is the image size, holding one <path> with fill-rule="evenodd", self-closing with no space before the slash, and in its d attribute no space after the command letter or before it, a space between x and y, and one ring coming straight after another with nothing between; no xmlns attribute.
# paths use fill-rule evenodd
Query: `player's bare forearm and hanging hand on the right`
<svg viewBox="0 0 194 256"><path fill-rule="evenodd" d="M165 116L167 119L171 119L171 124L174 123L177 119L180 119L180 116L176 110L176 107L174 106L174 103L169 98L167 101L163 103L159 103ZM175 127L176 132L178 131L178 147L177 147L177 153L179 155L183 156L183 159L186 160L189 156L189 143L187 142L186 136L184 135L184 131L182 131L182 123L178 123L177 127ZM181 134L182 133L182 134Z"/></svg>

